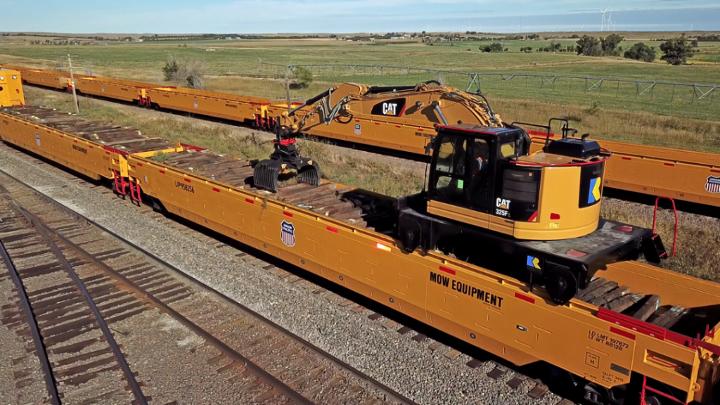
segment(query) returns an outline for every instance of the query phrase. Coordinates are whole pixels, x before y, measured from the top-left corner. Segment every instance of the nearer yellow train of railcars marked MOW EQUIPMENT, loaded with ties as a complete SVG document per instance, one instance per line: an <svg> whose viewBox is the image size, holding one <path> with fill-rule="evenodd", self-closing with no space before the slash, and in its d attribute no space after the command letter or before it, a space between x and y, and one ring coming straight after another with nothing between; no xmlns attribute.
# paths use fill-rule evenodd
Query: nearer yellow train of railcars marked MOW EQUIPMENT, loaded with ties
<svg viewBox="0 0 720 405"><path fill-rule="evenodd" d="M508 129L448 126L437 139L463 131L467 139L512 137L498 132ZM573 377L589 402L636 403L641 397L648 403L674 398L680 403L711 404L718 398L718 284L637 261L616 261L589 277L568 302L558 304L547 289L511 276L509 261L501 260L491 270L432 246L409 248L408 240L398 234L398 209L402 212L403 205L388 197L325 180L318 186L281 182L277 192L261 190L254 187L250 162L39 107L0 110L0 138L84 176L107 181L136 203L151 204L262 250L514 364L552 364ZM527 163L520 171L540 170L536 175L547 175L548 181L553 176L575 178L577 187L568 191L574 206L592 197L588 212L594 212L593 202L601 190L593 181L602 176L598 167L603 158L593 144L584 142L580 150L587 155L574 162L563 157L567 145L562 143L544 155L514 160ZM520 143L513 148L518 155L527 149ZM469 150L463 148L464 153ZM510 147L498 145L495 150L509 153ZM445 155L449 149L442 146L436 151L444 159L436 156L434 167L445 169L432 178L460 173L458 165L445 164L454 156L465 159L468 173L471 170L468 156L474 155ZM551 169L568 170L542 174L545 166L535 166L543 162L557 165ZM573 164L563 166L563 162ZM508 173L512 170L503 167ZM512 173L493 178L514 180L514 193L532 194L533 187L523 185L534 183ZM464 181L455 178L442 184L457 191L464 189ZM468 181L470 189L472 178ZM438 198L434 200L440 202ZM547 198L548 204L559 203ZM447 207L432 203L432 199L427 202L429 214L442 216L440 211L430 212L433 206L448 212ZM517 211L500 203L493 207L494 214L495 208L506 210L510 220L520 222L529 219L525 214L532 216L531 204L520 204ZM462 213L461 208L454 210ZM580 226L583 220L576 214L570 213ZM565 237L578 231L560 228L559 218L551 226L551 220L543 218L535 226L534 231L543 233L540 238L556 228L570 232ZM487 221L490 226L493 220ZM533 224L526 228L533 231ZM618 224L614 231L627 235L633 227ZM574 250L565 253L576 258L583 253L582 248Z"/></svg>

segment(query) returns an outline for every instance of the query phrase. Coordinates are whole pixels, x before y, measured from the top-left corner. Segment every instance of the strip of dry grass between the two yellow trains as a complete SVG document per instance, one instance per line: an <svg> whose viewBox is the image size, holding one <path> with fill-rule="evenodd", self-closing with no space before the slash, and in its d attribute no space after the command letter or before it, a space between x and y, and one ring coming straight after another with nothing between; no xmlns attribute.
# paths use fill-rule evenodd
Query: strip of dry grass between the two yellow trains
<svg viewBox="0 0 720 405"><path fill-rule="evenodd" d="M30 104L72 110L68 95L28 89ZM518 109L521 109L518 106ZM208 147L216 152L245 159L266 157L272 138L267 133L179 116L138 110L96 100L83 99L82 114L91 119L133 126L144 133L174 141ZM399 159L367 158L336 146L304 141L303 154L320 162L325 177L333 181L362 187L391 196L419 191L423 184L423 166ZM652 207L626 201L605 199L603 216L649 228ZM659 216L659 232L668 249L672 241L672 214L663 210ZM720 219L681 213L679 254L664 266L675 271L720 281Z"/></svg>

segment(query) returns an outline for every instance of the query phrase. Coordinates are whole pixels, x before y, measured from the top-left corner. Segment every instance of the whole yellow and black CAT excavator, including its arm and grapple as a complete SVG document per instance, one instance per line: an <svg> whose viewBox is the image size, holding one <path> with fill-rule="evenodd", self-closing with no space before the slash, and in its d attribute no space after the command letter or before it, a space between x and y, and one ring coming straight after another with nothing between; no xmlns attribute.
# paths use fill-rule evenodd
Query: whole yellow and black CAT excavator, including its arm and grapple
<svg viewBox="0 0 720 405"><path fill-rule="evenodd" d="M255 167L255 185L275 191L283 173L319 184L317 162L295 135L317 125L352 125L359 114L436 124L426 190L398 199L395 237L408 253L439 250L545 287L564 304L608 264L667 256L650 230L600 217L609 152L577 137L566 119L530 153L524 129L505 123L481 95L437 82L367 87L345 83L283 112L275 152ZM407 121L406 121L407 122ZM553 125L562 136L551 139ZM532 124L523 124L523 126Z"/></svg>

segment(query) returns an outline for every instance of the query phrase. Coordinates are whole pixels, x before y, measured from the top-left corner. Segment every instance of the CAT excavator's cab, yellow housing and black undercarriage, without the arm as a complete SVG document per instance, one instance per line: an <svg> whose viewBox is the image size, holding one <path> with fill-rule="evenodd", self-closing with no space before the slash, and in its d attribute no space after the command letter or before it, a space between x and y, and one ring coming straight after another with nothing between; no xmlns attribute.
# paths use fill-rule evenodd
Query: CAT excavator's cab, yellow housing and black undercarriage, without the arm
<svg viewBox="0 0 720 405"><path fill-rule="evenodd" d="M563 120L564 121L564 120ZM426 191L398 200L408 253L439 250L545 287L565 304L610 263L667 257L649 229L600 217L610 156L567 121L562 137L529 153L514 125L438 127Z"/></svg>

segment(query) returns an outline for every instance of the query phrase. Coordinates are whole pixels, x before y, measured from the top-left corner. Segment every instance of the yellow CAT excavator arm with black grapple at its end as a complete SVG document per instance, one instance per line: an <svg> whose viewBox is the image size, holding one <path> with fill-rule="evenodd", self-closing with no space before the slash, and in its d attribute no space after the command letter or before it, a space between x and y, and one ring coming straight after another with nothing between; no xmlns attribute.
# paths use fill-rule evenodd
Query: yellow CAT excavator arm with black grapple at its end
<svg viewBox="0 0 720 405"><path fill-rule="evenodd" d="M300 182L319 184L317 163L299 154L295 140L299 133L312 135L318 126L355 126L357 120L363 119L395 125L417 121L417 125L426 126L428 110L442 125L464 122L486 127L505 126L482 95L436 81L382 87L343 83L299 105L288 104L286 108L275 110L278 116L272 117L277 134L274 152L270 159L255 166L255 185L270 191L277 189L278 178L283 173L294 172Z"/></svg>

